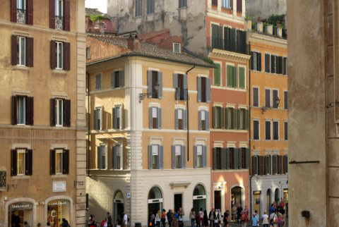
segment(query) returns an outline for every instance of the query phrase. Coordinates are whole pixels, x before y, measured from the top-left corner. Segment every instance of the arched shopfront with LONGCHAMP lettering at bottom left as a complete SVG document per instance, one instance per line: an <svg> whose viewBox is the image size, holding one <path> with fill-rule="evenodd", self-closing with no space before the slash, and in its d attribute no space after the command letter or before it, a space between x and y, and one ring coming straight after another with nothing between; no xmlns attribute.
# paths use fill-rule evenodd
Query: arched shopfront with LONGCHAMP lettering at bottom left
<svg viewBox="0 0 339 227"><path fill-rule="evenodd" d="M23 226L27 221L33 224L33 204L30 202L17 202L8 207L8 226Z"/></svg>

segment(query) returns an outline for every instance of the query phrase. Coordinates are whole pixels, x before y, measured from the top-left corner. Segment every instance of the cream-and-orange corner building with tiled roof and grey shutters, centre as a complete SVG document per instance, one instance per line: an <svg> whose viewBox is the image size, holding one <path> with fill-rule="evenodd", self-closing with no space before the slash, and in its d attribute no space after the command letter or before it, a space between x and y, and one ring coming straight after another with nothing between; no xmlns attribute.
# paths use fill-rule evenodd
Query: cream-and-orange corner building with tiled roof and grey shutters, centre
<svg viewBox="0 0 339 227"><path fill-rule="evenodd" d="M162 208L182 207L189 221L192 207L210 207L211 65L180 46L88 36L86 187L97 219L125 212L146 226Z"/></svg>

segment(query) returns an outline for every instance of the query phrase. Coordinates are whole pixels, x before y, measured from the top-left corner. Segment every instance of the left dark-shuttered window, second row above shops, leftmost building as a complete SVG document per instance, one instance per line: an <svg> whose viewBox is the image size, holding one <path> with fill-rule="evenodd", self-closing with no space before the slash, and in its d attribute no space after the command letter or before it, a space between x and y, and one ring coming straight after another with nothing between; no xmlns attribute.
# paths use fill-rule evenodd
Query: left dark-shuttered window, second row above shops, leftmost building
<svg viewBox="0 0 339 227"><path fill-rule="evenodd" d="M34 124L34 102L33 97L13 96L12 97L12 125L33 125Z"/></svg>

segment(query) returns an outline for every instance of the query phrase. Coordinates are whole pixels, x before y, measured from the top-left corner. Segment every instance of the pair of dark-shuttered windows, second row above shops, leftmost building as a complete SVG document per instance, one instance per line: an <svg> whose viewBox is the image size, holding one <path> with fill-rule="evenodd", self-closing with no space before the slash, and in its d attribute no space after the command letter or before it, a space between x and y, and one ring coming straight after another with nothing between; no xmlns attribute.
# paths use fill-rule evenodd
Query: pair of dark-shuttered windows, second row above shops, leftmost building
<svg viewBox="0 0 339 227"><path fill-rule="evenodd" d="M51 126L71 126L71 100L55 98L50 105ZM34 99L24 95L12 97L12 125L34 125Z"/></svg>

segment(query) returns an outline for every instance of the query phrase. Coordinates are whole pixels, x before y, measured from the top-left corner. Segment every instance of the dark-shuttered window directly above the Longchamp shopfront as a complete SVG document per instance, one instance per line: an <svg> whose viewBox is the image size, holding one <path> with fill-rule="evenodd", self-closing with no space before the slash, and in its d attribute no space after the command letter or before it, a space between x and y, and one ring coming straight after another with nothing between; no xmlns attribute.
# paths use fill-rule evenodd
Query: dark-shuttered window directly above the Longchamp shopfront
<svg viewBox="0 0 339 227"><path fill-rule="evenodd" d="M32 149L11 149L11 176L31 176L32 155Z"/></svg>

